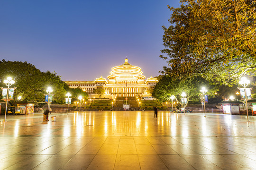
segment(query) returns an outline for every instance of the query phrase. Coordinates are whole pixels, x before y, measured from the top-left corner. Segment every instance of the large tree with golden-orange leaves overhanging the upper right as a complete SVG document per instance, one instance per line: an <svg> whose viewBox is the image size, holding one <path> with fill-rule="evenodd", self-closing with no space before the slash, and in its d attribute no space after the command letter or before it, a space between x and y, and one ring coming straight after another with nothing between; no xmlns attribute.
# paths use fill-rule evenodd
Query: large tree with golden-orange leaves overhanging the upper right
<svg viewBox="0 0 256 170"><path fill-rule="evenodd" d="M168 67L179 78L203 76L223 84L256 70L255 0L181 0L163 35ZM184 5L186 4L186 5Z"/></svg>

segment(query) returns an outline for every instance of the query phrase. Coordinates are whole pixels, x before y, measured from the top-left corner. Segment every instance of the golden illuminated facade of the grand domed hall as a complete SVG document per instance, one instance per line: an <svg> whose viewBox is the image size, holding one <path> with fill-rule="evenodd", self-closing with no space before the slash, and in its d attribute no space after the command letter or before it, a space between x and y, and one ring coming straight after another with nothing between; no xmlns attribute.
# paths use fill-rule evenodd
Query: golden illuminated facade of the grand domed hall
<svg viewBox="0 0 256 170"><path fill-rule="evenodd" d="M150 96L151 89L155 86L157 79L147 78L142 75L141 68L132 66L128 63L128 59L125 59L125 63L113 67L110 71L108 80L103 78L96 78L94 81L64 81L69 87L80 87L86 91L90 96L93 96L93 90L95 88L105 89L106 98L112 98L113 96Z"/></svg>

